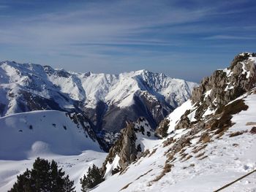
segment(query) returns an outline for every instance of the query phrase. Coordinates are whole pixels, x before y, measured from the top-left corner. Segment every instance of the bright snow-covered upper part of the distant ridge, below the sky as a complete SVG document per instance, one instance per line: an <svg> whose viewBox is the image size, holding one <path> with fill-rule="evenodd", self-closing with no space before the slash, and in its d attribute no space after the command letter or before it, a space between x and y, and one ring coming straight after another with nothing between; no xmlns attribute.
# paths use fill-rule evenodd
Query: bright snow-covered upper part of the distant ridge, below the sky
<svg viewBox="0 0 256 192"><path fill-rule="evenodd" d="M0 66L1 69L6 71L5 74L2 73L0 76L1 79L6 80L4 84L16 82L20 83L21 86L26 86L31 83L29 82L31 77L34 77L34 81L38 80L34 82L34 84L37 83L38 88L43 89L42 86L48 87L49 85L57 86L59 91L68 94L70 98L77 101L85 100L86 107L91 108L94 108L99 100L108 104L118 103L119 107L125 107L129 105L129 102L120 103L118 101L126 99L127 95L130 95L129 93L135 93L138 90L156 91L170 99L168 95L170 95L172 89L173 93L176 90L178 91L174 88L174 85L182 85L188 90L197 85L193 82L167 77L162 73L148 72L146 69L121 74L96 74L91 72L67 72L64 69L53 69L50 66L17 64L10 61L0 62ZM148 85L144 82L147 82ZM152 90L148 90L148 88L152 88ZM42 90L37 90L38 94L39 92L42 92ZM47 93L48 91L45 91L45 95ZM49 97L50 94L48 94Z"/></svg>

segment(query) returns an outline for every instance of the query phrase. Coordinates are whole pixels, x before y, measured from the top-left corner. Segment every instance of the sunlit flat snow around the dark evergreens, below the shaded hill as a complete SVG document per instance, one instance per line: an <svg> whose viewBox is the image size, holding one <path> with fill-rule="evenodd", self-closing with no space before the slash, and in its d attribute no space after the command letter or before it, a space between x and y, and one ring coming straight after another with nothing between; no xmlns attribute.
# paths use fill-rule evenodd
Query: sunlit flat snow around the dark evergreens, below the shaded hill
<svg viewBox="0 0 256 192"><path fill-rule="evenodd" d="M66 174L69 174L70 180L75 182L75 190L80 191L80 178L86 174L90 166L102 166L107 153L94 150L85 150L79 155L39 155L41 158L52 159L58 163ZM35 158L29 158L20 161L0 160L0 191L8 191L17 180L17 175L31 169Z"/></svg>

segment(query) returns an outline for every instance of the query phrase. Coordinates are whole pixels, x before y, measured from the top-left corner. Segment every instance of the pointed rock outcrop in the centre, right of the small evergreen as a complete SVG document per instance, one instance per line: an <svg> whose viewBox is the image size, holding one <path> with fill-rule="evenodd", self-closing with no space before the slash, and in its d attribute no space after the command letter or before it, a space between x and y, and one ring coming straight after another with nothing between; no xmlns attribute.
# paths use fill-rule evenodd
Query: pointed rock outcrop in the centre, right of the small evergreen
<svg viewBox="0 0 256 192"><path fill-rule="evenodd" d="M112 174L124 170L129 164L135 161L147 149L141 139L156 139L154 131L151 130L145 118L139 118L136 122L127 122L126 128L121 130L121 136L110 148L109 154L102 166L106 171L107 164L112 164L116 155L120 158L118 169L112 170Z"/></svg>

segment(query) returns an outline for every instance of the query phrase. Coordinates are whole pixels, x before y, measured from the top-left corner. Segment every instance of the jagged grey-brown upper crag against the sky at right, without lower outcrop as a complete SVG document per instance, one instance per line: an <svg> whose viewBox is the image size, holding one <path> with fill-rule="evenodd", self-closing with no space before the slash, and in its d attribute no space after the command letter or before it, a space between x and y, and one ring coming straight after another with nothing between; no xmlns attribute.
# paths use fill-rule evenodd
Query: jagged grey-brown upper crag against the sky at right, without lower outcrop
<svg viewBox="0 0 256 192"><path fill-rule="evenodd" d="M252 89L256 83L256 67L249 58L253 55L255 53L241 53L234 58L230 67L204 78L192 92L192 103L204 101L207 106L215 107L213 102L216 99L215 105L222 106ZM209 96L204 98L206 91L210 90Z"/></svg>

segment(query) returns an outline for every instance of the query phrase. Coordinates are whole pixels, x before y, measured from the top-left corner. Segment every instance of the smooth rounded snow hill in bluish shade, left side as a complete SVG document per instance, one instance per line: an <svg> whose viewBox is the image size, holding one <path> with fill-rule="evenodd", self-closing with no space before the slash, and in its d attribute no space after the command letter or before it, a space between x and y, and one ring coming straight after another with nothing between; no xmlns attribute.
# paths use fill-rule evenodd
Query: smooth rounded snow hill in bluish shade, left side
<svg viewBox="0 0 256 192"><path fill-rule="evenodd" d="M20 160L42 153L77 155L97 150L82 126L59 111L23 112L0 118L0 158ZM13 142L15 141L15 142ZM13 153L15 151L15 153Z"/></svg>

